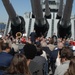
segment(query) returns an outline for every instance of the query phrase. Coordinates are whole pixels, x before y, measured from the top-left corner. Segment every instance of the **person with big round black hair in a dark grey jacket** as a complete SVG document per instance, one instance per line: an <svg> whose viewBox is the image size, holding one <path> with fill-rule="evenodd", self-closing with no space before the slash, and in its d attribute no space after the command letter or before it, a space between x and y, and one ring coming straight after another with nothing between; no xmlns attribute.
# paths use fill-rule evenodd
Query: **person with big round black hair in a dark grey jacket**
<svg viewBox="0 0 75 75"><path fill-rule="evenodd" d="M27 58L27 64L29 66L30 72L32 75L42 75L42 69L40 65L33 61L33 58L36 56L37 49L34 44L26 43L26 45L23 48L24 55Z"/></svg>

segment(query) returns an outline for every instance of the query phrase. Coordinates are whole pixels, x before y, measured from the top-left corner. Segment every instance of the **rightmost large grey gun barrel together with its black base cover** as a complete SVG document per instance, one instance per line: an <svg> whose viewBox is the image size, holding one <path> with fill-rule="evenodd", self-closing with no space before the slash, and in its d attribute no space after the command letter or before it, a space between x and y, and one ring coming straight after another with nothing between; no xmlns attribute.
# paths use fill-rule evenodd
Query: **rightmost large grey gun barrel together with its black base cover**
<svg viewBox="0 0 75 75"><path fill-rule="evenodd" d="M72 12L72 4L73 0L66 0L66 5L64 8L64 13L58 22L58 37L62 38L70 38L71 37L71 21L70 21L70 16Z"/></svg>

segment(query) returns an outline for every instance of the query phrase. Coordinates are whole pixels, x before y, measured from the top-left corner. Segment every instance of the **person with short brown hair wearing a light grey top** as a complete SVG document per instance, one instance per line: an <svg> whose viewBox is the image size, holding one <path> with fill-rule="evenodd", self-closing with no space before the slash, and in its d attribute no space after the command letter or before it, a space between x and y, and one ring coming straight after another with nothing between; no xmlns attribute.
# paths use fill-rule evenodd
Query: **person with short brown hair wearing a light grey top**
<svg viewBox="0 0 75 75"><path fill-rule="evenodd" d="M64 75L69 68L69 63L72 57L73 51L69 47L63 48L60 55L61 65L56 68L54 75Z"/></svg>

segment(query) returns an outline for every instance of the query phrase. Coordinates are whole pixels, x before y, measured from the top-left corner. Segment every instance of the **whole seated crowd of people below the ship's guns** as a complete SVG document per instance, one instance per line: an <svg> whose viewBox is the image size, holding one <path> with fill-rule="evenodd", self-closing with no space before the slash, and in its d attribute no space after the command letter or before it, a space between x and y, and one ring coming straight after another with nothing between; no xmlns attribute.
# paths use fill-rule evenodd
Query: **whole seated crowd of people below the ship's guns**
<svg viewBox="0 0 75 75"><path fill-rule="evenodd" d="M72 38L0 37L0 75L75 75Z"/></svg>

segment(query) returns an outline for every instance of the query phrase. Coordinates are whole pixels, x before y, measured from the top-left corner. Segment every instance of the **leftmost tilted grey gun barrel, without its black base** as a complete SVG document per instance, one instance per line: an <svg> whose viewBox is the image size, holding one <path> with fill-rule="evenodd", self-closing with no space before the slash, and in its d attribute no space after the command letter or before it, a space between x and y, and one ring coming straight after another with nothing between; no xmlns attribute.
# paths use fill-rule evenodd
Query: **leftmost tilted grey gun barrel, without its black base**
<svg viewBox="0 0 75 75"><path fill-rule="evenodd" d="M5 6L5 9L9 15L9 18L11 19L12 23L20 23L20 19L19 17L17 16L14 8L12 7L11 3L9 0L2 0L4 6Z"/></svg>

